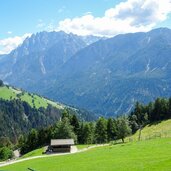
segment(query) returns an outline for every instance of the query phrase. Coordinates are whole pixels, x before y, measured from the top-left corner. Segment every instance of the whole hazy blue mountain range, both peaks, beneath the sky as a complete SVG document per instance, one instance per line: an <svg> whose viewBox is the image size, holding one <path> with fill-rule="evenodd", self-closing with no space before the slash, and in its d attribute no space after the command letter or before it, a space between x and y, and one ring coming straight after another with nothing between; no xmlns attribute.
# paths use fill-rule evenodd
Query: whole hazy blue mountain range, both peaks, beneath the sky
<svg viewBox="0 0 171 171"><path fill-rule="evenodd" d="M18 63L14 56L12 62L2 58L0 76L5 81L105 116L129 112L136 101L147 103L171 95L170 29L117 35L88 46L78 36L64 34L60 39L58 35L55 48L45 51L42 48L51 41L43 35L26 40L36 40L33 49L23 43L9 55L19 54L20 49L27 52L17 55Z"/></svg>

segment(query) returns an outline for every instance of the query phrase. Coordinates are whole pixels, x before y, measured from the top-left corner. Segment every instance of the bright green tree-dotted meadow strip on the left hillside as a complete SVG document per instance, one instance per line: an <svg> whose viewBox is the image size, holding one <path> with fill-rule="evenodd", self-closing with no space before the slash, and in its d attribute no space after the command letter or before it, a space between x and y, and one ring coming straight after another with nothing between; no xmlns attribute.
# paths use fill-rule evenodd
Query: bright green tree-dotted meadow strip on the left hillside
<svg viewBox="0 0 171 171"><path fill-rule="evenodd" d="M28 102L32 107L35 105L36 108L39 107L47 107L48 104L51 104L52 106L55 106L59 109L63 109L64 105L55 103L53 101L50 101L48 99L45 99L41 96L35 95L35 94L29 94L27 92L22 92L19 89L14 89L12 87L0 87L0 98L5 100L10 99L21 99L22 101Z"/></svg>

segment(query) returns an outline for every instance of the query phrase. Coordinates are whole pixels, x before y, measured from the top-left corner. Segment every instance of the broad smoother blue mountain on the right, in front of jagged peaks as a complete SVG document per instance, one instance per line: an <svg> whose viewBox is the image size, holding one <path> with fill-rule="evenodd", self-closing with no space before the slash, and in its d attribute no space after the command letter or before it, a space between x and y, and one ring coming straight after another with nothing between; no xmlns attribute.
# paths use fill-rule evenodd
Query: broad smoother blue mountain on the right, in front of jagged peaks
<svg viewBox="0 0 171 171"><path fill-rule="evenodd" d="M171 30L161 28L118 35L80 50L58 72L56 82L40 92L103 115L117 115L129 112L136 101L169 97L170 75Z"/></svg>

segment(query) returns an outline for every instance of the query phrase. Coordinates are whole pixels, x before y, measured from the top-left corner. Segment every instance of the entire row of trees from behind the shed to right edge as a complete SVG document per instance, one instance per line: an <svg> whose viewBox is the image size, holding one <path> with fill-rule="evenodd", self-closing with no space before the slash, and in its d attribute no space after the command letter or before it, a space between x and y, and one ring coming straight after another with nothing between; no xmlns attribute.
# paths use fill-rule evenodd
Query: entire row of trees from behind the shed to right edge
<svg viewBox="0 0 171 171"><path fill-rule="evenodd" d="M107 143L121 139L141 130L147 124L153 124L171 118L171 98L157 98L147 105L135 104L128 115L116 118L99 117L96 121L82 121L69 110L64 110L61 118L53 125L32 129L21 134L17 148L21 154L50 144L51 139L73 138L76 144ZM7 144L10 144L7 140ZM4 145L9 147L9 145Z"/></svg>

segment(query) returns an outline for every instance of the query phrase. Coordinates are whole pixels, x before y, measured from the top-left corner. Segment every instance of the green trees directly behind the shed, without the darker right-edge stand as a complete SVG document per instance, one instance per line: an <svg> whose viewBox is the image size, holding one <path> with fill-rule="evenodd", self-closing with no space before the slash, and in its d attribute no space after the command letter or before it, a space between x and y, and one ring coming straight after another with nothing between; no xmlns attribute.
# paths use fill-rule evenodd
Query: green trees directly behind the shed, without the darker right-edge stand
<svg viewBox="0 0 171 171"><path fill-rule="evenodd" d="M122 139L131 134L128 117L105 119L100 117L96 122L82 122L76 115L65 110L61 120L53 126L39 130L32 129L27 136L21 135L18 147L21 154L36 148L49 145L51 139L73 138L76 144L107 143Z"/></svg>

